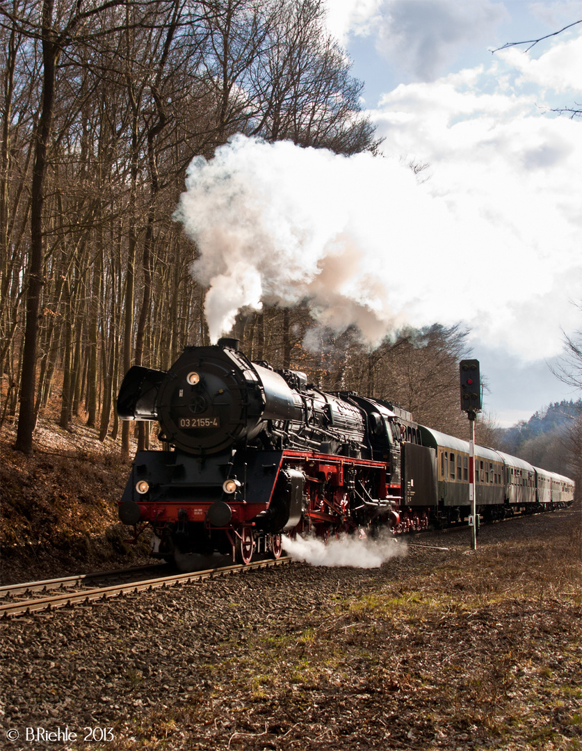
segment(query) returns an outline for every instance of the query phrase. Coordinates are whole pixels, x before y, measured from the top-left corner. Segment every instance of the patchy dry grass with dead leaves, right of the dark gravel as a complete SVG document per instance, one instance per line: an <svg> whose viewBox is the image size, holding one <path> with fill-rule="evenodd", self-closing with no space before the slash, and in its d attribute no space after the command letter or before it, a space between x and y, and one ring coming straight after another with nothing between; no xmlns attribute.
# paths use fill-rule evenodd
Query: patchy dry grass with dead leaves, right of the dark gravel
<svg viewBox="0 0 582 751"><path fill-rule="evenodd" d="M582 749L580 514L546 519L234 633L119 748Z"/></svg>

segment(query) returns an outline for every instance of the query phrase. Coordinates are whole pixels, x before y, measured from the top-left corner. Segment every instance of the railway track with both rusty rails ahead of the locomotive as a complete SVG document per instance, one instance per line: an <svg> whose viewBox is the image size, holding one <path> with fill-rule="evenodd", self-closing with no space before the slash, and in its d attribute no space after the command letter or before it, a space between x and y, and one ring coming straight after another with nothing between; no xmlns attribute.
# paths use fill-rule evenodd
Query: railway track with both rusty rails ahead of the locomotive
<svg viewBox="0 0 582 751"><path fill-rule="evenodd" d="M104 602L107 599L131 593L155 590L158 587L170 587L178 584L191 584L208 578L228 576L231 574L264 569L268 566L281 566L291 562L289 556L279 559L265 559L249 563L246 566L221 566L216 569L205 569L188 574L165 574L154 578L142 578L142 573L156 569L165 569L164 564L155 566L140 566L134 569L121 569L114 572L101 572L95 574L83 574L60 579L48 579L46 581L33 581L26 584L14 584L8 587L0 587L0 618L15 617L26 614L36 614L42 611L53 611L57 608L72 607L74 605L87 604L90 602ZM117 582L107 586L92 587L91 580L98 581L100 578L122 578L129 575L131 581ZM137 575L137 579L135 578ZM93 581L95 584L95 581ZM54 592L53 592L54 590ZM35 595L31 597L31 595Z"/></svg>

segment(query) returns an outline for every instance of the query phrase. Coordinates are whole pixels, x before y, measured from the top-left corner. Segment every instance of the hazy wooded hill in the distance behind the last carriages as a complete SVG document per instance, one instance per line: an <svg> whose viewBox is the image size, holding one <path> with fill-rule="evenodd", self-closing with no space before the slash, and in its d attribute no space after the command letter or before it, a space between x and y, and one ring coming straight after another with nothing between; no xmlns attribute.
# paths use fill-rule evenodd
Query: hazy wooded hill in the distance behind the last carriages
<svg viewBox="0 0 582 751"><path fill-rule="evenodd" d="M580 415L582 399L552 403L535 412L528 421L499 428L497 446L535 466L569 476L568 436Z"/></svg>

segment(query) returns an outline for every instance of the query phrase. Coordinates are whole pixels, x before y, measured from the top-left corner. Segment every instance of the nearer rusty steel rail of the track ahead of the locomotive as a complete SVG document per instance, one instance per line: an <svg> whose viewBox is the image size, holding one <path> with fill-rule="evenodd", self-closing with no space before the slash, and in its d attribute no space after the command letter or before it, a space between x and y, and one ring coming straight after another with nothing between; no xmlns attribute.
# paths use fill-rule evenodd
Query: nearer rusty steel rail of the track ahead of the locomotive
<svg viewBox="0 0 582 751"><path fill-rule="evenodd" d="M125 584L116 584L112 587L98 587L93 590L80 590L79 592L62 593L38 599L8 602L0 605L0 618L50 611L79 603L105 601L119 595L143 592L144 590L151 591L159 587L168 587L176 584L194 584L197 581L208 578L218 578L235 573L249 572L255 569L265 569L270 566L280 566L289 562L291 562L289 556L282 556L278 559L253 561L246 566L222 566L219 569L205 569L204 571L196 571L188 574L173 574L155 579L125 582ZM41 583L39 582L38 584Z"/></svg>

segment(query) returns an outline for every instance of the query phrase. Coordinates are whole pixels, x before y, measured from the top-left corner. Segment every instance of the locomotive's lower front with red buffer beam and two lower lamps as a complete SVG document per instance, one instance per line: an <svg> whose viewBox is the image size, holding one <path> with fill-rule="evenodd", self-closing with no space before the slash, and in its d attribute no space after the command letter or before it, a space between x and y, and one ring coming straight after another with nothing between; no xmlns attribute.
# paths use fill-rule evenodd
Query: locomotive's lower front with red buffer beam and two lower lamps
<svg viewBox="0 0 582 751"><path fill-rule="evenodd" d="M244 456L243 456L244 454ZM140 451L119 503L119 518L136 535L151 526L152 555L175 559L255 552L282 553L281 535L301 517L303 473L282 467L282 451L239 451L192 457Z"/></svg>

